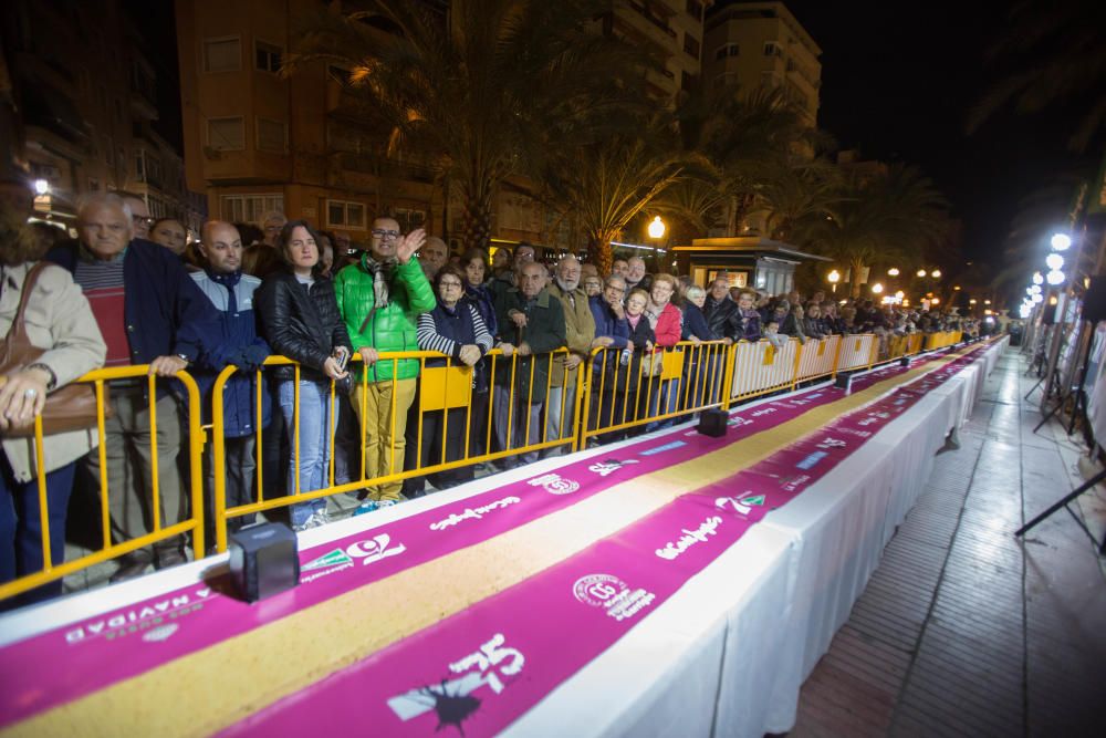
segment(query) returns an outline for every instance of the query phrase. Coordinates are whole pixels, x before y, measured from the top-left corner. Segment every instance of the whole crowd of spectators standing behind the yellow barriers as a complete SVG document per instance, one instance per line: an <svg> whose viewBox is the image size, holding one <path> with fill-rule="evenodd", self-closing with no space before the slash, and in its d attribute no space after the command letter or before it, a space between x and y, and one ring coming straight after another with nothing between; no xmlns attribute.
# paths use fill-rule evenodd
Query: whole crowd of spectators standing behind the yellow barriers
<svg viewBox="0 0 1106 738"><path fill-rule="evenodd" d="M267 499L372 480L357 508L371 512L424 495L427 485L463 482L474 469L456 465L403 478L404 471L491 451L503 451L495 468L509 469L563 453L557 441L573 436L577 413L587 413L589 429L609 430L602 441L670 423L702 399L688 389L699 393L705 377L720 383L721 372L711 372L721 347L738 341L979 329L956 315L838 302L821 291L805 299L795 291L763 294L732 287L727 274L696 284L686 276L649 273L638 257L615 259L603 276L572 254L543 263L529 245L500 247L490 258L481 249L450 253L441 239L422 229L403 233L389 217L373 221L362 248L280 214L260 228L211 220L189 242L180 222L154 220L140 199L96 194L80 204L77 238L44 240L23 230L3 231L0 331L14 330L22 315L43 353L6 368L0 428L25 425L54 388L100 366L149 365L159 377L153 397L145 377L107 383L104 449L95 449L94 427L46 437L55 564L64 553L69 499L82 485L98 498L101 479L107 480L117 542L189 517L190 409L175 378L184 370L202 393L202 423L211 420L217 376L229 365L242 370L221 391L228 507L257 499L261 466ZM24 300L24 280L40 262L48 266ZM680 342L719 350L700 352L677 380L661 383L664 352ZM416 351L441 357L382 357ZM294 363L268 366L259 378L255 370L270 356ZM354 356L359 361L351 362ZM582 410L580 373L593 386L592 406ZM424 386L431 376L462 377L463 405L431 402ZM0 581L43 565L32 443L3 440ZM513 449L520 453L510 455ZM298 530L327 519L324 497L290 506ZM233 517L228 528L252 520ZM131 551L113 580L180 563L185 547L178 536ZM17 601L53 596L60 586L46 584Z"/></svg>

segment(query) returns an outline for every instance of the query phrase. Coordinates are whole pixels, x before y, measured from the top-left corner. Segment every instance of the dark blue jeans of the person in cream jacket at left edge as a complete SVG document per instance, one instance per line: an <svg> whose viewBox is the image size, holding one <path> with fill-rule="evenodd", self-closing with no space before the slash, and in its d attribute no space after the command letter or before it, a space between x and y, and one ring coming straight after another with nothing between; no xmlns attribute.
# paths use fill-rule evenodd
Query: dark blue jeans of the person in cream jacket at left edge
<svg viewBox="0 0 1106 738"><path fill-rule="evenodd" d="M50 520L50 561L65 560L65 512L73 491L76 462L46 472L46 512ZM39 523L39 481L17 482L8 457L0 451L0 583L42 570L42 526ZM0 603L0 611L42 602L62 593L62 581L36 586Z"/></svg>

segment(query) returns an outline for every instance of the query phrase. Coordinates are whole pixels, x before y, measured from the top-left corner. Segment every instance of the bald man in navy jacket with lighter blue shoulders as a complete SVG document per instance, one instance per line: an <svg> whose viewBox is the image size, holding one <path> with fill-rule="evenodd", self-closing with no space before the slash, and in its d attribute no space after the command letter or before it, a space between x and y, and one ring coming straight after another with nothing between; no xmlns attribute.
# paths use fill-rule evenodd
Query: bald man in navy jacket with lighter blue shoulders
<svg viewBox="0 0 1106 738"><path fill-rule="evenodd" d="M258 335L253 313L253 293L261 287L257 277L242 273L242 237L229 222L209 220L204 224L199 245L204 257L204 271L191 273L219 313L219 343L207 349L199 360L196 383L204 393L204 407L210 412L211 388L218 374L233 364L242 370L227 380L222 389L223 459L227 507L249 505L253 501L254 446L257 446L258 382L255 370L272 353L264 339ZM261 382L261 427L269 426L269 387ZM212 510L215 501L213 444L208 446L207 505ZM211 514L207 516L211 521ZM254 516L240 516L227 520L227 529L234 531L253 522ZM209 534L213 529L208 527ZM213 539L208 541L213 543Z"/></svg>

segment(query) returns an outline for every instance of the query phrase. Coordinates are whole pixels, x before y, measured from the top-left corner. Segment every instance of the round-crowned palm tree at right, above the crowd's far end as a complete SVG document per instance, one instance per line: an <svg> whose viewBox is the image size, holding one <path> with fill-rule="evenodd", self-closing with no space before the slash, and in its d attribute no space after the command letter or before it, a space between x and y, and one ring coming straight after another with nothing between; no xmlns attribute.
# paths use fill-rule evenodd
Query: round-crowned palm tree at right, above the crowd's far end
<svg viewBox="0 0 1106 738"><path fill-rule="evenodd" d="M940 239L946 200L916 168L890 165L885 174L846 180L836 215L802 224L796 241L848 267L853 297L865 267L900 261Z"/></svg>

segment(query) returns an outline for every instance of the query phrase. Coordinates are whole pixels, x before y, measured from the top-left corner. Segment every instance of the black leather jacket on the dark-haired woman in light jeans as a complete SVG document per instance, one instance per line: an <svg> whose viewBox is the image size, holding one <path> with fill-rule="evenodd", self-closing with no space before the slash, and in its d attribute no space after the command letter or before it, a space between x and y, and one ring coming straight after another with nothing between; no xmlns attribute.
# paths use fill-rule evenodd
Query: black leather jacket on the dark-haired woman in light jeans
<svg viewBox="0 0 1106 738"><path fill-rule="evenodd" d="M291 271L273 272L261 283L253 303L273 353L300 362L302 380L328 381L323 364L334 349L353 350L328 279L316 278L309 291ZM272 373L279 380L295 378L294 366L274 366Z"/></svg>

